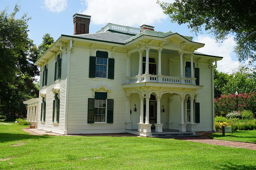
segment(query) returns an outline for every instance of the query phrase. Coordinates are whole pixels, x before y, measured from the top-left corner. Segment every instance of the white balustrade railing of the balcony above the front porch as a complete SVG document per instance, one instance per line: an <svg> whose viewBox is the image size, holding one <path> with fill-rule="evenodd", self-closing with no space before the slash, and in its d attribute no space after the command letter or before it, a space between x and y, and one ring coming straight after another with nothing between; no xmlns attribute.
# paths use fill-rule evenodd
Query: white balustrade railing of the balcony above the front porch
<svg viewBox="0 0 256 170"><path fill-rule="evenodd" d="M172 77L166 75L143 74L134 77L127 77L127 84L152 82L152 83L168 83L168 84L188 84L196 85L196 78Z"/></svg>

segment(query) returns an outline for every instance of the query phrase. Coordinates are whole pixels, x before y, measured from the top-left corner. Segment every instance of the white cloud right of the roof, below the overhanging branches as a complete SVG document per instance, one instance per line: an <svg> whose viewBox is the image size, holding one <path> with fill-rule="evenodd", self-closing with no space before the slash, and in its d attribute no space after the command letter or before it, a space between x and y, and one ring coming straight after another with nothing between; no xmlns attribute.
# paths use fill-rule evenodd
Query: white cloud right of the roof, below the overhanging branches
<svg viewBox="0 0 256 170"><path fill-rule="evenodd" d="M233 53L236 45L233 36L225 39L222 43L215 42L215 39L208 35L199 35L195 41L205 44L204 47L197 50L198 52L223 57L222 60L218 61L217 69L219 71L232 73L232 69L240 65L238 59L235 58L235 53Z"/></svg>

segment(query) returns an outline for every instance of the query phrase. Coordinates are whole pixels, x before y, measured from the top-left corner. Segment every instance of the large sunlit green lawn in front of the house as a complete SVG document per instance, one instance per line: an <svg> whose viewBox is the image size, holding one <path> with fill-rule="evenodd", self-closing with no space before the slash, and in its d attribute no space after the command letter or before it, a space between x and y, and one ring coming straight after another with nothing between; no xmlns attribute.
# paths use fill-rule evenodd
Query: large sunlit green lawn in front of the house
<svg viewBox="0 0 256 170"><path fill-rule="evenodd" d="M256 169L256 151L175 139L34 136L0 124L0 169ZM7 160L5 160L7 159Z"/></svg>

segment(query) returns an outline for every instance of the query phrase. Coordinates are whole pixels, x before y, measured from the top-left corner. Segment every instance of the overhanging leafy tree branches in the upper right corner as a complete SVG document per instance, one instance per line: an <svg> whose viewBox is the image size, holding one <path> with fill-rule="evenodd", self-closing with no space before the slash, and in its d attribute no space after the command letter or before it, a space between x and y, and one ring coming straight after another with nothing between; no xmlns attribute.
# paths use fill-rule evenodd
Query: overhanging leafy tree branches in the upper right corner
<svg viewBox="0 0 256 170"><path fill-rule="evenodd" d="M256 61L256 1L243 0L175 0L160 3L171 22L188 23L194 32L206 31L214 34L217 41L235 34L235 51L239 61Z"/></svg>

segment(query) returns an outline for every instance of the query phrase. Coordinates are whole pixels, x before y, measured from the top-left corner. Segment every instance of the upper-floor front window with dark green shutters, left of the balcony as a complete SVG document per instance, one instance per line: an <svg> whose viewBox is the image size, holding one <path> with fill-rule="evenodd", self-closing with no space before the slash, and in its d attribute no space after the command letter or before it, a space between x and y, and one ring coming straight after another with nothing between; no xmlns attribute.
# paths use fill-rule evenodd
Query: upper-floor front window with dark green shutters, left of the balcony
<svg viewBox="0 0 256 170"><path fill-rule="evenodd" d="M89 77L114 79L115 59L108 58L108 52L97 51L90 56Z"/></svg>

